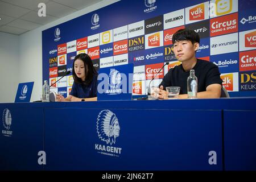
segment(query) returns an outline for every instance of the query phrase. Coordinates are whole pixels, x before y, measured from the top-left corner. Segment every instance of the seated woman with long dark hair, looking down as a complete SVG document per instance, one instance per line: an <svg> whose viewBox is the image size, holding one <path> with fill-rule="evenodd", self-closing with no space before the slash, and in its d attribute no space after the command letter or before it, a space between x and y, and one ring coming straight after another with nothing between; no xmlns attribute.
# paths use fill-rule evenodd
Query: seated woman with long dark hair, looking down
<svg viewBox="0 0 256 182"><path fill-rule="evenodd" d="M67 98L56 94L56 101L97 101L98 73L93 67L90 56L80 53L73 62L72 74L74 78L72 90Z"/></svg>

